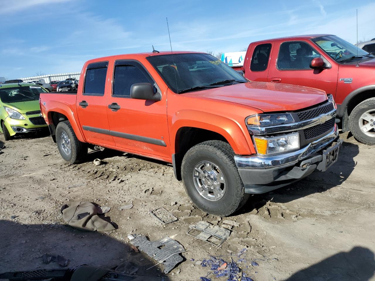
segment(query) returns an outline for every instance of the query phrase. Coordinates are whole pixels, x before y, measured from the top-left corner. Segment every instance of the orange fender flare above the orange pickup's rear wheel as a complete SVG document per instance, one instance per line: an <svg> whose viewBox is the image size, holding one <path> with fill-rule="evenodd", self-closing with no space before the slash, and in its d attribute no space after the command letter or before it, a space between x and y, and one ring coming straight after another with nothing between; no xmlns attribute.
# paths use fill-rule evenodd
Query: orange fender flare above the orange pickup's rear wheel
<svg viewBox="0 0 375 281"><path fill-rule="evenodd" d="M68 118L68 121L71 123L71 126L74 130L75 135L77 136L77 139L81 142L86 142L86 139L84 138L80 124L77 123L78 121L75 118L77 114L74 114L74 112L71 109L71 106L65 103L51 100L48 103L48 108L46 108L46 112L47 112L49 126L53 124L52 114L51 114L52 112L63 114Z"/></svg>

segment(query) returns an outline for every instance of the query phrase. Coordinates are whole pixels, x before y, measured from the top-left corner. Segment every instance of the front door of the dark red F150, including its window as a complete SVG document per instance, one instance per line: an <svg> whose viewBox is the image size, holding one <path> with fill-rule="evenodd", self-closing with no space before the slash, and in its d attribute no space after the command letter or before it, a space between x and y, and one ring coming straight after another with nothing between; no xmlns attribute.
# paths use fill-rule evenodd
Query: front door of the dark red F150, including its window
<svg viewBox="0 0 375 281"><path fill-rule="evenodd" d="M312 69L310 63L316 57L328 62L309 41L275 41L268 81L318 88L335 96L338 66L328 63L329 69Z"/></svg>

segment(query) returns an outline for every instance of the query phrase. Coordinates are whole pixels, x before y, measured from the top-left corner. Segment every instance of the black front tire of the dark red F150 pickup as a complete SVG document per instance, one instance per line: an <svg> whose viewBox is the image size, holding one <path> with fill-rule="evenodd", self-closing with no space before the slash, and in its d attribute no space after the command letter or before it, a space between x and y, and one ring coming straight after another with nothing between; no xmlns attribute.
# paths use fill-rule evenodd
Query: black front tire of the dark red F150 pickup
<svg viewBox="0 0 375 281"><path fill-rule="evenodd" d="M367 99L361 102L359 105L357 105L353 111L350 114L349 117L349 129L351 133L353 134L354 138L362 143L365 143L367 145L375 145L375 136L371 137L366 135L360 128L359 122L361 119L361 116L371 109L374 109L375 112L375 98ZM371 121L374 125L374 129L372 129L370 132L374 132L375 135L375 119ZM371 124L371 122L369 122Z"/></svg>

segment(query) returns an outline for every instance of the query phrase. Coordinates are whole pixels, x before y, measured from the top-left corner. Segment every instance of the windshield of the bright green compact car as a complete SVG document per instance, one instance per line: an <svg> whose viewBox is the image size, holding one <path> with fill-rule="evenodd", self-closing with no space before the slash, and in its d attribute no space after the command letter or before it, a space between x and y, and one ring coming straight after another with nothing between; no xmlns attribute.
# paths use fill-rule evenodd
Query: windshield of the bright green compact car
<svg viewBox="0 0 375 281"><path fill-rule="evenodd" d="M0 88L0 99L3 103L30 102L45 92L40 86Z"/></svg>

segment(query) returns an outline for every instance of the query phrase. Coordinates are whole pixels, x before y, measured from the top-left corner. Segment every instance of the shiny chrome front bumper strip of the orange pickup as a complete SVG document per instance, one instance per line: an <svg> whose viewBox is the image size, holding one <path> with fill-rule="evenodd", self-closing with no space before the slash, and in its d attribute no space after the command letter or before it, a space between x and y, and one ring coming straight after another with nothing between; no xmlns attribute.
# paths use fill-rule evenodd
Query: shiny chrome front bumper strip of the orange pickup
<svg viewBox="0 0 375 281"><path fill-rule="evenodd" d="M339 131L337 129L337 125L335 125L330 133L296 151L271 156L235 155L234 161L236 161L237 167L250 169L268 169L274 167L291 166L320 151L325 146L335 141L338 136Z"/></svg>

